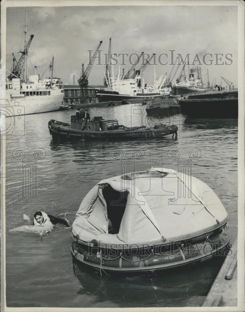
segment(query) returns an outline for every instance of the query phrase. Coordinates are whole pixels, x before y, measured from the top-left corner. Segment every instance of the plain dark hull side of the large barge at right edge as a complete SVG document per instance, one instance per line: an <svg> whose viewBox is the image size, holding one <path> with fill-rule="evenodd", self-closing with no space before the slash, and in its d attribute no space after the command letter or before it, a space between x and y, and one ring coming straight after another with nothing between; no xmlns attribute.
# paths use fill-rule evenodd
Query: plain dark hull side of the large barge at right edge
<svg viewBox="0 0 245 312"><path fill-rule="evenodd" d="M238 118L238 99L179 100L181 113L189 117Z"/></svg>

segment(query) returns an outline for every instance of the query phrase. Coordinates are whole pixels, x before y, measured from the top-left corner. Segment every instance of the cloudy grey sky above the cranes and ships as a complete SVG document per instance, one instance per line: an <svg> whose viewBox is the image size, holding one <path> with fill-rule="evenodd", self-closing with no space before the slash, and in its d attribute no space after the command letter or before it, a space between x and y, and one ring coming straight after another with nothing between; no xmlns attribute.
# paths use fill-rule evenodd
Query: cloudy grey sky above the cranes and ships
<svg viewBox="0 0 245 312"><path fill-rule="evenodd" d="M8 70L12 62L11 53L19 57L17 52L23 49L24 21L24 7L7 8ZM176 50L175 53L183 56L191 53L190 60L196 53L200 59L203 54L212 53L214 60L214 53L232 53L232 65L203 65L202 76L205 82L208 68L210 83L215 77L216 83L220 83L220 76L223 76L237 87L238 26L235 6L27 7L27 25L27 36L34 34L28 53L29 70L37 65L41 74L54 55L55 76L61 77L64 84L73 84L73 75L77 81L81 64L88 62L87 50L95 49L100 40L103 41L101 53L107 53L111 37L113 53L140 54L144 51L158 55L167 53L170 57L169 50ZM130 65L121 66L121 70L122 67L127 71ZM146 81L154 78L153 67L148 66L145 70ZM164 75L171 68L171 65L155 66L156 76ZM89 84L102 85L104 71L104 65L95 63ZM114 73L117 71L118 66L114 66ZM49 76L48 72L44 76Z"/></svg>

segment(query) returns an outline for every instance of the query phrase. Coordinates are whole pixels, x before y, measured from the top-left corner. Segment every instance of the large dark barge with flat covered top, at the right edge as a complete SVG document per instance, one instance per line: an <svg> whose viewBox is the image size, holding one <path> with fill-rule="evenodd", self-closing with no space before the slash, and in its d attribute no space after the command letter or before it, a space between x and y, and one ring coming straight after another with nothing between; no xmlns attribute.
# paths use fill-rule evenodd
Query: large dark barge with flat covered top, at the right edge
<svg viewBox="0 0 245 312"><path fill-rule="evenodd" d="M185 95L179 105L189 117L238 118L238 89Z"/></svg>

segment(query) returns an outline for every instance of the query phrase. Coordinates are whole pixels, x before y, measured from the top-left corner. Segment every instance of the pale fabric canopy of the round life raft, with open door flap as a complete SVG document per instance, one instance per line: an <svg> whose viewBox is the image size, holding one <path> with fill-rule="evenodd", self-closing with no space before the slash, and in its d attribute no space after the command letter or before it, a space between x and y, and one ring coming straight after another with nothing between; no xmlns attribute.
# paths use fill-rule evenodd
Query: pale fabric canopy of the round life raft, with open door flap
<svg viewBox="0 0 245 312"><path fill-rule="evenodd" d="M208 185L172 169L152 168L100 181L81 202L72 233L86 243L141 246L201 235L227 220Z"/></svg>

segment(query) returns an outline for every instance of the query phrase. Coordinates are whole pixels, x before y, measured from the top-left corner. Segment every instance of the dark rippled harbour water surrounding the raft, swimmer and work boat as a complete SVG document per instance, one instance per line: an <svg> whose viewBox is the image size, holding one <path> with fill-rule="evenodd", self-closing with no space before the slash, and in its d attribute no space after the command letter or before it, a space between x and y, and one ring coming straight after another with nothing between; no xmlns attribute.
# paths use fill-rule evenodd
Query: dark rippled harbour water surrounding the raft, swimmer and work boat
<svg viewBox="0 0 245 312"><path fill-rule="evenodd" d="M142 114L135 113L134 108L134 105L91 108L90 115L116 118L127 126L140 125ZM72 222L86 193L101 179L120 174L122 164L128 163L140 171L151 166L177 169L178 164L189 163L192 174L213 188L227 209L233 241L237 234L237 120L190 119L177 115L170 121L179 127L177 139L170 135L162 140L140 142L53 144L47 128L49 119L69 122L74 113L69 110L16 119L17 136L6 143L7 306L201 305L223 263L221 256L152 276L103 275L101 278L100 273L72 262L69 229L56 226L43 237L8 230L28 224L22 220L22 214L32 217L37 210ZM23 152L18 150L25 153L24 159ZM37 150L42 152L37 152L34 158ZM28 192L22 196L22 184L27 183L27 187L30 184L25 182L23 174L28 166L29 170L37 168L37 198L32 198L35 179L29 197Z"/></svg>

